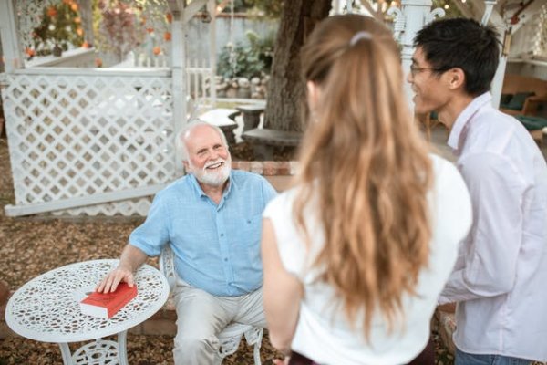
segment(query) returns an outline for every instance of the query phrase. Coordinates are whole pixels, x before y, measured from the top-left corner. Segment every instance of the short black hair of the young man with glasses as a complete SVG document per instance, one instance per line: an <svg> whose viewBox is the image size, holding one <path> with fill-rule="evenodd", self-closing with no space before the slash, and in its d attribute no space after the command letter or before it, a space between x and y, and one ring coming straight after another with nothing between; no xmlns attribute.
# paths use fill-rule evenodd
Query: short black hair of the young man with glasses
<svg viewBox="0 0 547 365"><path fill-rule="evenodd" d="M490 90L500 58L498 32L493 27L461 17L441 19L421 29L414 46L422 48L434 72L461 68L471 96Z"/></svg>

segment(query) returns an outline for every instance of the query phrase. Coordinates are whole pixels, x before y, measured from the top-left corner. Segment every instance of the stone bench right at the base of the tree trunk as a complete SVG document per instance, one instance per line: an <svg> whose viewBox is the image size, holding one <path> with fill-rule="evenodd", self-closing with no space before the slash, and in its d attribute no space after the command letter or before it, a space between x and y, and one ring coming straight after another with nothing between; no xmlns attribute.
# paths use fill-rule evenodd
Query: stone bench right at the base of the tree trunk
<svg viewBox="0 0 547 365"><path fill-rule="evenodd" d="M296 147L302 140L303 133L298 131L253 129L244 131L243 141L253 145L254 157L257 160L274 159L274 147Z"/></svg>

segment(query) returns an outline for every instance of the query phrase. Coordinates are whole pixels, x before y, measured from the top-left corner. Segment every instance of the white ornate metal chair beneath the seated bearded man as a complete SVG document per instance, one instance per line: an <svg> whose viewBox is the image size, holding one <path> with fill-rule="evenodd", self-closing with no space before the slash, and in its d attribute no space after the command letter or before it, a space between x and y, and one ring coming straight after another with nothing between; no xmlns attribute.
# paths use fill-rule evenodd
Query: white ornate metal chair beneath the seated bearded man
<svg viewBox="0 0 547 365"><path fill-rule="evenodd" d="M170 245L164 245L160 255L160 271L167 277L171 294L175 287L177 277L175 274L174 259L175 255ZM260 360L260 347L262 346L263 328L232 322L219 334L219 365L226 356L232 355L232 353L237 351L243 335L245 335L247 344L254 346L254 363L256 365L262 364Z"/></svg>

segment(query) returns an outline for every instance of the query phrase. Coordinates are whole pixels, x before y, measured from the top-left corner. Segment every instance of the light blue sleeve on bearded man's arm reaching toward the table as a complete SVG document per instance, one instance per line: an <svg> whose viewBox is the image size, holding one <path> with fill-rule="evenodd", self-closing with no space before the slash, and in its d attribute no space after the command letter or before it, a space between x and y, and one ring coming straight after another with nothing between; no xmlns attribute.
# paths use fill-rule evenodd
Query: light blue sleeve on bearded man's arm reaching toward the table
<svg viewBox="0 0 547 365"><path fill-rule="evenodd" d="M146 221L129 235L129 244L139 248L146 255L160 255L161 247L170 241L168 226L170 219L165 203L162 195L157 194L150 206Z"/></svg>

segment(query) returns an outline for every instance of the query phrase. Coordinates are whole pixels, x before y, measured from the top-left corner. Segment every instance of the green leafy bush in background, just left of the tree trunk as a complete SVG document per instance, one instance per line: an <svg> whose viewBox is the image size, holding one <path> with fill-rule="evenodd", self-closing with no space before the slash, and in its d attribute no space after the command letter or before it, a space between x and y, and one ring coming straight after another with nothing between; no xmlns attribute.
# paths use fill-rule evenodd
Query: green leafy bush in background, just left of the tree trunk
<svg viewBox="0 0 547 365"><path fill-rule="evenodd" d="M261 38L247 31L248 45L236 43L222 48L217 64L217 74L224 78L253 78L269 74L274 55L274 36Z"/></svg>

